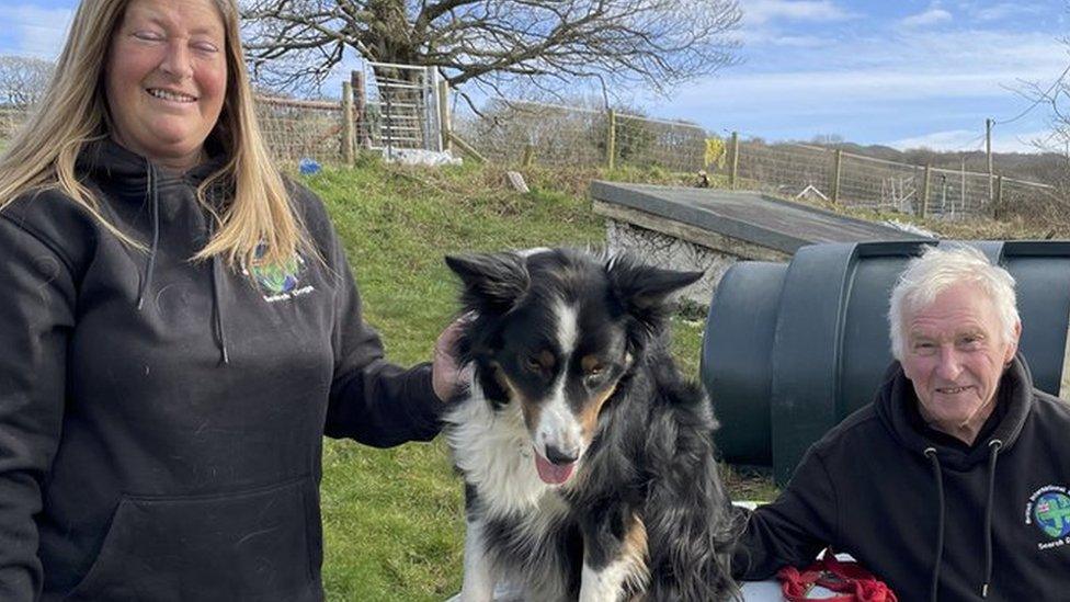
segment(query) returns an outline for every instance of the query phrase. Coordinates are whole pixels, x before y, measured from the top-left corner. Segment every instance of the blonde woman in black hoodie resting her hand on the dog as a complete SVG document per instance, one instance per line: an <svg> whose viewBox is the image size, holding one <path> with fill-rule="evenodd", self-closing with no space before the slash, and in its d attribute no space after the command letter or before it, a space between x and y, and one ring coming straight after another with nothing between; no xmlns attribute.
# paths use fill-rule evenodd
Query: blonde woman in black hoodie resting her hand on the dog
<svg viewBox="0 0 1070 602"><path fill-rule="evenodd" d="M242 66L234 0L83 0L0 160L0 600L320 600L323 433L439 430L453 329L384 362Z"/></svg>

